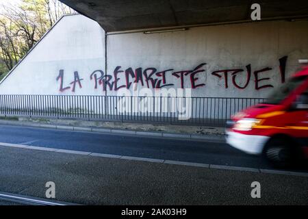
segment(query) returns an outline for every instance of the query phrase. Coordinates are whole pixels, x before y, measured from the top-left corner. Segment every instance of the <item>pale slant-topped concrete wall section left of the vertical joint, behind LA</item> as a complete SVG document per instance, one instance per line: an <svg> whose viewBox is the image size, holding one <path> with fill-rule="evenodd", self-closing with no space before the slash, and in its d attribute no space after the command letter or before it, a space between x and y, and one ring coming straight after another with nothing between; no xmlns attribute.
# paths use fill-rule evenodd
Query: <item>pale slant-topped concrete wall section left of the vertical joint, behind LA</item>
<svg viewBox="0 0 308 219"><path fill-rule="evenodd" d="M0 94L101 94L88 83L96 69L105 69L105 31L82 15L64 16L0 84ZM63 88L60 91L63 70ZM82 88L75 84L77 71Z"/></svg>

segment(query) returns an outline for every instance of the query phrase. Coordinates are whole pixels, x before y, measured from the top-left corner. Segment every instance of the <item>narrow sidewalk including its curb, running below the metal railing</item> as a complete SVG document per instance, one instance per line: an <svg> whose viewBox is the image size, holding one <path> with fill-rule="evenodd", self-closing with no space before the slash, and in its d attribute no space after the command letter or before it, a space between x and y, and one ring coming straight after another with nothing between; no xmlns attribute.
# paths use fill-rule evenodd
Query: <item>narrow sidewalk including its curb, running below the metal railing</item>
<svg viewBox="0 0 308 219"><path fill-rule="evenodd" d="M159 138L180 138L185 140L205 140L224 142L224 128L191 127L176 125L153 125L141 123L115 123L88 120L66 120L51 118L7 117L0 119L3 125L19 125L25 127L42 127L71 131L93 131L100 133L116 133L124 135L151 136ZM161 130L162 127L165 129ZM170 128L171 127L171 128ZM166 131L167 130L167 131Z"/></svg>

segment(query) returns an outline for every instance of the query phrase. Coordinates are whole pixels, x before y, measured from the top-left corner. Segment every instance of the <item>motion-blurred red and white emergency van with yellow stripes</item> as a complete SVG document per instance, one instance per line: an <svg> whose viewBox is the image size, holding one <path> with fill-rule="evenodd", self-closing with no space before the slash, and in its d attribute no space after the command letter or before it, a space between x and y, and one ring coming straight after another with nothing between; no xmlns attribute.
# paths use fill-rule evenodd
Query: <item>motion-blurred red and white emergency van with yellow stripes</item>
<svg viewBox="0 0 308 219"><path fill-rule="evenodd" d="M308 66L274 90L266 102L231 119L227 143L236 149L262 154L276 166L308 158Z"/></svg>

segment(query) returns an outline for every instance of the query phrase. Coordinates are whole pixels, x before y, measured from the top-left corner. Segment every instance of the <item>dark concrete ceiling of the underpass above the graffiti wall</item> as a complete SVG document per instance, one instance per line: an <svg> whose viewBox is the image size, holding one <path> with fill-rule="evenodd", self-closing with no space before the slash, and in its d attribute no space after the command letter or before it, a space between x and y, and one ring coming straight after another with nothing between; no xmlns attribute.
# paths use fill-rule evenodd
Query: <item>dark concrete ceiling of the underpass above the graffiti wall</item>
<svg viewBox="0 0 308 219"><path fill-rule="evenodd" d="M308 17L307 0L60 0L97 21L105 31L249 21L251 4L261 20Z"/></svg>

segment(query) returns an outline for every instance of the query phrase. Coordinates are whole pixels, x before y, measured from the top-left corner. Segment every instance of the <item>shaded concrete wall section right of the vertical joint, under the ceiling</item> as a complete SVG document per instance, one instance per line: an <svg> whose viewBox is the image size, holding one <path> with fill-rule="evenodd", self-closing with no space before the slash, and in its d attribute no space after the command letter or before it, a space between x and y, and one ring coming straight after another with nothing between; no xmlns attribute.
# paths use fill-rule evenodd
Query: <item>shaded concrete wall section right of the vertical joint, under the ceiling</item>
<svg viewBox="0 0 308 219"><path fill-rule="evenodd" d="M108 36L107 72L112 73L116 66L121 66L121 70L129 67L133 70L155 68L157 72L170 69L166 72L166 83L161 85L172 83L172 86L165 88L181 88L181 78L172 73L193 70L199 64L206 63L199 68L204 71L194 75L195 86L201 86L193 88L190 79L192 73L183 77L184 88L193 88L193 96L265 97L282 83L279 70L281 57L287 56L285 77L289 77L298 67L298 59L308 57L307 27L307 21L273 21L197 27L160 34ZM245 87L248 75L246 66L249 64L251 77ZM226 73L228 87L225 85L224 73L214 73L226 69L230 70ZM231 75L234 69L239 71L236 76ZM256 82L254 73L262 69L264 71L257 73L257 79L268 79ZM125 73L118 75L121 78L118 87L125 85ZM242 89L234 85L233 77L235 85ZM155 74L153 78L162 80ZM138 88L141 87L147 87L147 84L144 82L144 86L141 86L139 81ZM151 83L149 87L153 88ZM115 92L109 91L107 94Z"/></svg>

